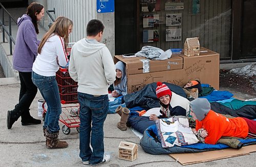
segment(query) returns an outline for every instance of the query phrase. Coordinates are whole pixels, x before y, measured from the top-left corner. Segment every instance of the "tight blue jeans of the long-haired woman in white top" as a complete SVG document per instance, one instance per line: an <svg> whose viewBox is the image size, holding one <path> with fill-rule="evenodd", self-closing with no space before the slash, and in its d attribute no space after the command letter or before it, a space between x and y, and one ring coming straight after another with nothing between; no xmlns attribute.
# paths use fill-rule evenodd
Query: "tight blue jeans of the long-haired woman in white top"
<svg viewBox="0 0 256 167"><path fill-rule="evenodd" d="M43 127L47 128L50 133L56 133L59 131L61 104L55 76L40 76L32 71L32 81L37 86L42 98L44 98L47 103L47 112Z"/></svg>

